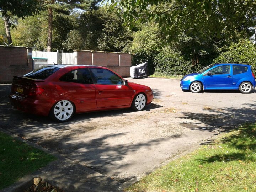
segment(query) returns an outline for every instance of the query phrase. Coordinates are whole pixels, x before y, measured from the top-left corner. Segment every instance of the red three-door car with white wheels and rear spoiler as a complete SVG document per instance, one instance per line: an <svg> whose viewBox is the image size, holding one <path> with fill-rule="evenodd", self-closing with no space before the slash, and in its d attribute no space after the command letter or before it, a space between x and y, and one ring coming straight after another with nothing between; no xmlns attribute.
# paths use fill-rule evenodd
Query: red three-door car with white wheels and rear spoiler
<svg viewBox="0 0 256 192"><path fill-rule="evenodd" d="M14 76L9 97L14 108L65 122L75 113L129 107L141 111L152 102L153 92L105 67L47 65Z"/></svg>

